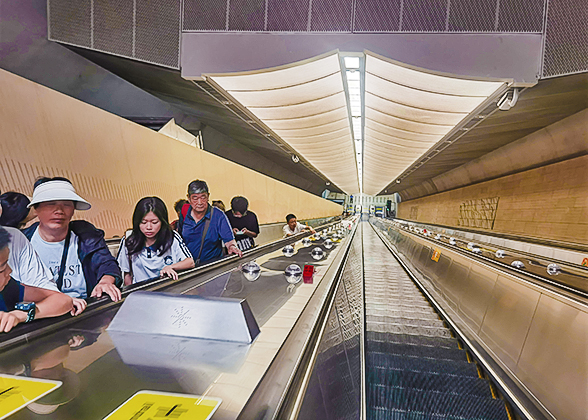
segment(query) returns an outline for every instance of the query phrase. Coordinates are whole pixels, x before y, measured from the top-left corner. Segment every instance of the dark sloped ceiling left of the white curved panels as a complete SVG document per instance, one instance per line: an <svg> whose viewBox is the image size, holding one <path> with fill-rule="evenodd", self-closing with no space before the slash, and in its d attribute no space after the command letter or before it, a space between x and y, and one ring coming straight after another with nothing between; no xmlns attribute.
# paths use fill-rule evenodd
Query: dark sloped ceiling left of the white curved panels
<svg viewBox="0 0 588 420"><path fill-rule="evenodd" d="M294 163L289 153L255 131L194 83L183 79L179 71L83 48L67 47L230 137L228 141L221 136L216 136L214 141L207 141L205 135L206 151L312 194L320 195L325 188L341 192L332 183L327 187L326 178Z"/></svg>

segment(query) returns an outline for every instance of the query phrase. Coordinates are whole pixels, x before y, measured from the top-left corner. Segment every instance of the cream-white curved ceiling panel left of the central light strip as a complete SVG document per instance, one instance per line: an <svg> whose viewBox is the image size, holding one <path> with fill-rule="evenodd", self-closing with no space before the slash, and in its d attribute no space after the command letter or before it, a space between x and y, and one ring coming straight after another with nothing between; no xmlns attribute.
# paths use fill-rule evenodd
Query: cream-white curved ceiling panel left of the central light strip
<svg viewBox="0 0 588 420"><path fill-rule="evenodd" d="M359 191L337 52L287 68L207 77L342 191Z"/></svg>

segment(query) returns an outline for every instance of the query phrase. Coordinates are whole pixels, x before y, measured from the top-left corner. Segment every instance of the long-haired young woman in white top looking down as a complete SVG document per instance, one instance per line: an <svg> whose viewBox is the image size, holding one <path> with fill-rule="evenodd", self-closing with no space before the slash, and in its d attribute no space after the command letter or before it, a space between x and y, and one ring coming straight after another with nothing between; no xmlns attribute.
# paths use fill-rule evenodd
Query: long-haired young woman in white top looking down
<svg viewBox="0 0 588 420"><path fill-rule="evenodd" d="M142 198L133 213L133 230L123 238L118 264L125 285L168 276L194 267L194 260L181 236L169 225L167 208L158 197Z"/></svg>

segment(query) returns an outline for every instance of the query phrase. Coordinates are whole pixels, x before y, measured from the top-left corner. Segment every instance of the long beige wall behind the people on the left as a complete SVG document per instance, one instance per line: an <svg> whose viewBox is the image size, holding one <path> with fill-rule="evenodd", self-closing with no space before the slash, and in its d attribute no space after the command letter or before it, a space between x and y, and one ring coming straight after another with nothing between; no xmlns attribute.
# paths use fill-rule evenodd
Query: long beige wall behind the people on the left
<svg viewBox="0 0 588 420"><path fill-rule="evenodd" d="M260 223L341 214L339 204L237 165L0 70L0 190L32 195L38 176L65 176L92 209L76 212L121 235L136 202L158 196L168 205L193 179L208 182L211 200L243 195Z"/></svg>

